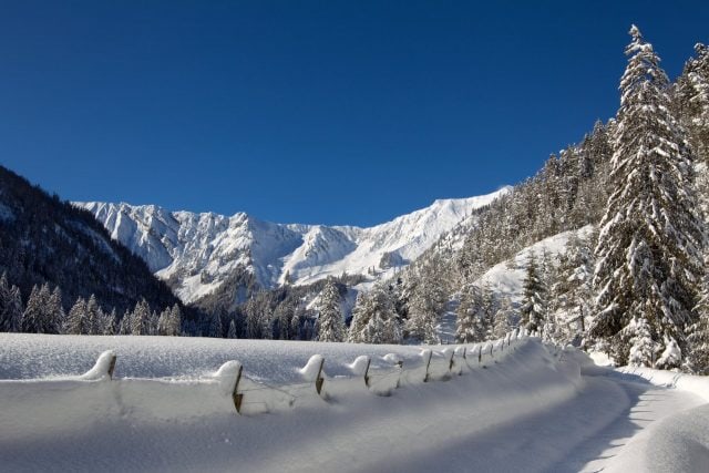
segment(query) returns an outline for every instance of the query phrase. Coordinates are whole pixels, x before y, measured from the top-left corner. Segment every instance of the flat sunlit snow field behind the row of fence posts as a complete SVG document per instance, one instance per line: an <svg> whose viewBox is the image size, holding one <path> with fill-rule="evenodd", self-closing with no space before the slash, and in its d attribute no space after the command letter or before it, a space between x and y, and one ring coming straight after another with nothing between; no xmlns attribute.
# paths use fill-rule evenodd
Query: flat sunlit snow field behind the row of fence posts
<svg viewBox="0 0 709 473"><path fill-rule="evenodd" d="M106 350L117 357L116 378L198 380L223 363L238 360L250 378L278 384L301 382L298 369L314 353L327 360L327 374L336 377L351 376L350 363L363 353L372 357L372 368L390 368L391 362L383 359L386 354L395 353L411 363L418 362L421 351L395 345L0 333L0 379L76 376L89 371Z"/></svg>

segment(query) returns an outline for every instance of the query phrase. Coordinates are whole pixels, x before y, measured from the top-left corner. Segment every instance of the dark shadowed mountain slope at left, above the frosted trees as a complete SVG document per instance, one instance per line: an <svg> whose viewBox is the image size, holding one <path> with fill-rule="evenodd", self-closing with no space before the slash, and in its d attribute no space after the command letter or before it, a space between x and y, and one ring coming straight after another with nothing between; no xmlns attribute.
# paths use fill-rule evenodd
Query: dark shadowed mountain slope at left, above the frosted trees
<svg viewBox="0 0 709 473"><path fill-rule="evenodd" d="M25 298L33 285L60 286L69 307L91 294L120 311L143 297L155 309L177 302L91 214L0 166L0 274L6 271Z"/></svg>

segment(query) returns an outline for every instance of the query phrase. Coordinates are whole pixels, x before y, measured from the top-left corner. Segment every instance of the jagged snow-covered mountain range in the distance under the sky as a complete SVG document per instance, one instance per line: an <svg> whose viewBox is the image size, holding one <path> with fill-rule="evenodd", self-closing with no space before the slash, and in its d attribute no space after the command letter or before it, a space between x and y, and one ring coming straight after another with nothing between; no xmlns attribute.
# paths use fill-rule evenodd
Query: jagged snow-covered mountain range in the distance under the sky
<svg viewBox="0 0 709 473"><path fill-rule="evenodd" d="M169 212L155 205L76 203L112 237L142 257L185 301L215 289L246 269L273 288L309 284L329 275L389 276L408 265L439 237L490 204L492 194L435 200L431 206L369 228L274 224L238 213Z"/></svg>

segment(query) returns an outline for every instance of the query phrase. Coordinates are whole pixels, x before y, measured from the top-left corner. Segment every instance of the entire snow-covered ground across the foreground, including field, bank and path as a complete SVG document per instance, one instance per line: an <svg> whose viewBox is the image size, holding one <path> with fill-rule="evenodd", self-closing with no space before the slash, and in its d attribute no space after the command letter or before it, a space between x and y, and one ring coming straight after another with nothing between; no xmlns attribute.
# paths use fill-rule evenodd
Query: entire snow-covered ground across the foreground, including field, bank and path
<svg viewBox="0 0 709 473"><path fill-rule="evenodd" d="M482 364L475 347L466 361L459 350L452 374L454 347L430 348L432 376L423 382L428 352L419 347L0 333L0 470L627 472L709 464L706 399L682 383L658 387L536 339L497 347ZM105 350L117 357L114 379L79 378ZM314 354L325 360L321 395ZM372 357L370 389L362 359L354 362L362 356ZM248 377L243 408L268 409L236 413L236 364L216 373L228 360ZM276 402L279 392L285 402Z"/></svg>

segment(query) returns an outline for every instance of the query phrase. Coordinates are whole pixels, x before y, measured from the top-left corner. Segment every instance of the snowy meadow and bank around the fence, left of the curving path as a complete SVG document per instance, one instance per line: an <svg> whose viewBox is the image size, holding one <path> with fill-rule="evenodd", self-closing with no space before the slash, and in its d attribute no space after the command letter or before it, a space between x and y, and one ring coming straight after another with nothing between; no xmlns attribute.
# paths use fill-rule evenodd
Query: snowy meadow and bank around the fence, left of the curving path
<svg viewBox="0 0 709 473"><path fill-rule="evenodd" d="M576 380L565 374L574 371L565 368L574 361L549 353L536 340L521 340L493 357L483 356L482 362L470 356L453 358L463 366L463 376L425 383L417 370L429 361L441 370L448 363L450 373L452 350L442 353L442 347L431 347L422 353L417 347L269 342L250 353L259 345L247 340L230 340L225 350L210 340L181 339L188 347L184 351L167 338L32 336L29 340L0 335L6 377L50 373L0 381L0 457L7 471L347 472L401 471L404 464L408 471L423 471L409 462L484 439L493 426L513 424L577 393ZM68 366L91 364L107 341L117 356L113 381L58 377ZM21 356L19 347L25 350ZM140 356L130 354L138 348ZM475 352L475 347L465 351ZM48 352L62 356L52 358ZM297 409L277 415L237 415L237 398L229 387L239 364L209 363L210 369L203 370L205 360L227 353L235 359L244 354L245 374L250 366L258 369L258 357L265 357L279 360L282 373L274 371L275 378L295 380L288 391L266 385L273 380L243 378L237 390L243 410L258 412L258 403L277 402L282 408L295 403ZM298 373L312 353L325 359L325 397ZM398 356L403 369L387 362L388 353ZM389 376L401 389L389 391L387 398L372 395L376 389L368 389L351 369L361 368L361 358L353 361L363 356L371 358L373 376L379 373L380 381ZM160 367L146 367L151 363ZM191 377L183 376L185 364L191 366ZM158 379L127 376L168 368L174 371Z"/></svg>

